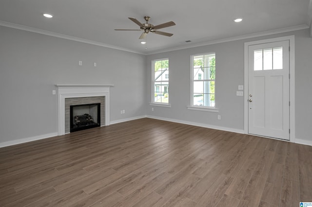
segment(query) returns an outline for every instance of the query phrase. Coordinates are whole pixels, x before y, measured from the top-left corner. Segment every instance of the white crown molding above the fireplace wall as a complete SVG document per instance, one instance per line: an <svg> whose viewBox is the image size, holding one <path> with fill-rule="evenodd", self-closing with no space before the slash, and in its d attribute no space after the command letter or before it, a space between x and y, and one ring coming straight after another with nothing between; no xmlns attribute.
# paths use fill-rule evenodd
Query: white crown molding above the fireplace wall
<svg viewBox="0 0 312 207"><path fill-rule="evenodd" d="M75 36L63 35L63 34L59 34L59 33L50 32L47 30L41 30L41 29L37 29L34 27L28 27L28 26L24 26L24 25L20 25L20 24L14 24L11 22L1 21L1 20L0 20L0 26L10 27L10 28L14 28L14 29L18 29L18 30L24 30L24 31L33 32L33 33L38 33L41 35L49 35L49 36L59 37L59 38L63 38L63 39L69 39L69 40L73 40L73 41L77 41L77 42L83 42L83 43L87 43L87 44L91 44L91 45L97 45L97 46L116 49L116 50L125 51L125 52L134 52L134 53L138 53L138 54L144 54L144 53L137 52L134 50L130 50L127 48L117 47L114 45L104 44L101 42L83 39L83 38L79 38L79 37L75 37Z"/></svg>

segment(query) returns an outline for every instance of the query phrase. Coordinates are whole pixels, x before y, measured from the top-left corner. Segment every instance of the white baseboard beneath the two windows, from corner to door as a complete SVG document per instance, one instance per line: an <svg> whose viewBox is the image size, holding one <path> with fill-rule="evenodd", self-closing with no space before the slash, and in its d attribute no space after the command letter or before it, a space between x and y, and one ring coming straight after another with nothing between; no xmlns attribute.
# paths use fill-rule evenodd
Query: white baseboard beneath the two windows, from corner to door
<svg viewBox="0 0 312 207"><path fill-rule="evenodd" d="M198 123L198 122L193 122L193 121L182 121L182 120L169 119L169 118L163 118L163 117L155 117L155 116L146 116L146 117L151 118L151 119L156 119L156 120L172 121L172 122L176 122L176 123L183 123L183 124L188 124L188 125L193 125L193 126L200 126L200 127L210 128L210 129L217 129L217 130L222 130L222 131L244 134L243 129L234 129L234 128L228 128L228 127L223 127L223 126Z"/></svg>

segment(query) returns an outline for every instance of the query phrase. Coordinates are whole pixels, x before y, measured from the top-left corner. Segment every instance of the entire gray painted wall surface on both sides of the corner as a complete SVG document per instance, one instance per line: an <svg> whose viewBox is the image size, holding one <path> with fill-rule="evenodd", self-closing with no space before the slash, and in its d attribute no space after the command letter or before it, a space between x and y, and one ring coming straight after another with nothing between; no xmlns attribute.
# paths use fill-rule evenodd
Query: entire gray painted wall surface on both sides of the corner
<svg viewBox="0 0 312 207"><path fill-rule="evenodd" d="M0 26L0 145L57 133L55 84L114 84L111 122L147 115L243 130L243 98L235 92L244 85L244 43L286 35L295 35L295 137L312 143L309 29L145 56ZM191 55L203 52L216 53L216 104L221 120L217 113L186 108ZM151 61L166 57L172 107L150 106ZM121 109L126 113L121 115Z"/></svg>

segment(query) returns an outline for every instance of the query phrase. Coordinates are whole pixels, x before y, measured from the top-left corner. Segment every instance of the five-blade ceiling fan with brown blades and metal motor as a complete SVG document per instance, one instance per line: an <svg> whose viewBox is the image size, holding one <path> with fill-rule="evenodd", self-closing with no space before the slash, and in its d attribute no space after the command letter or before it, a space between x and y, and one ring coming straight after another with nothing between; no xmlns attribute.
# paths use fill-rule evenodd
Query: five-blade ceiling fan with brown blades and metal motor
<svg viewBox="0 0 312 207"><path fill-rule="evenodd" d="M156 26L154 26L153 24L148 23L148 21L151 19L151 17L145 16L144 19L146 21L146 23L141 23L139 22L136 18L132 18L132 17L128 17L131 21L133 21L134 23L136 23L138 26L140 26L139 30L122 30L122 29L115 29L115 30L119 30L119 31L142 31L144 30L144 32L142 33L142 35L140 35L139 39L144 39L146 37L147 34L151 33L155 33L157 35L165 35L165 36L172 36L174 34L171 33L165 33L165 32L160 32L157 31L158 29L161 28L165 28L165 27L171 27L176 25L175 22L173 21L168 21L166 23L163 24L158 24Z"/></svg>

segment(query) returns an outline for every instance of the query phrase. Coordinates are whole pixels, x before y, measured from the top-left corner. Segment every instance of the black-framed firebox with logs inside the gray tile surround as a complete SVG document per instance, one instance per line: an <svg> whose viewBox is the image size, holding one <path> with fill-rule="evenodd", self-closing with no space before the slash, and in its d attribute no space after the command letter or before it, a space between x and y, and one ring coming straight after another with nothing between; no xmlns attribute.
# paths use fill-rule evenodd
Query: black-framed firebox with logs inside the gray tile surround
<svg viewBox="0 0 312 207"><path fill-rule="evenodd" d="M101 125L100 103L70 106L70 132L90 129Z"/></svg>

